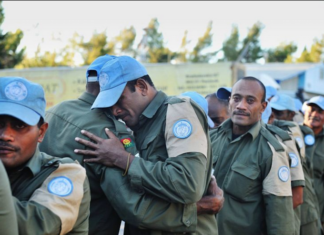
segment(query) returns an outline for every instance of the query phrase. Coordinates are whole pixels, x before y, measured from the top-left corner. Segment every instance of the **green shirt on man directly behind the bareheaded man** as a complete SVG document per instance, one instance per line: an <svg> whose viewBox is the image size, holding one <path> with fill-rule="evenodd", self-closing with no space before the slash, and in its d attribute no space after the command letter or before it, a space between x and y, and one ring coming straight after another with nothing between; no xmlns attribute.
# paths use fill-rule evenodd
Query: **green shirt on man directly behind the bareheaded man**
<svg viewBox="0 0 324 235"><path fill-rule="evenodd" d="M306 126L299 126L294 122L289 121L282 121L282 120L275 120L273 122L273 125L276 125L283 130L289 131L294 140L295 145L299 151L299 155L301 156L301 163L304 171L304 177L305 177L305 187L303 190L303 204L301 207L301 234L312 234L312 232L303 231L303 227L308 227L309 225L313 223L313 227L311 231L319 231L318 228L318 209L317 209L317 198L315 195L315 190L312 182L312 168L310 166L310 157L309 155L312 152L312 149L307 151L309 149L309 145L305 145L304 142L304 136L308 134L312 134L312 130ZM305 148L306 147L306 148ZM306 233L305 233L306 232Z"/></svg>

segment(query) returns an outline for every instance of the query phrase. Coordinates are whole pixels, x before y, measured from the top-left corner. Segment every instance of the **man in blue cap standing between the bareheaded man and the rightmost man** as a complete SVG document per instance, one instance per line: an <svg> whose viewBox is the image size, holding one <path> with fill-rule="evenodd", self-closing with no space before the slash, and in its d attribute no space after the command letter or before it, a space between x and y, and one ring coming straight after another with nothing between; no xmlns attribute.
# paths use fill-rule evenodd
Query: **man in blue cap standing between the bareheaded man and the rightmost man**
<svg viewBox="0 0 324 235"><path fill-rule="evenodd" d="M275 96L271 102L270 106L272 107L275 120L273 125L282 128L290 133L294 139L295 145L299 151L300 162L303 167L304 177L305 177L305 187L303 190L303 204L300 207L300 234L319 234L320 227L318 223L318 210L317 210L317 199L315 195L315 189L312 183L312 169L310 167L310 157L307 156L305 152L305 142L303 131L300 126L293 122L295 114L295 105L293 98L281 94ZM309 129L303 127L303 129ZM305 130L307 131L307 130ZM311 130L309 130L311 131ZM307 145L306 145L307 146ZM298 159L291 159L292 164L295 162L298 166ZM293 169L296 169L293 168ZM293 188L293 197L294 197L294 188Z"/></svg>

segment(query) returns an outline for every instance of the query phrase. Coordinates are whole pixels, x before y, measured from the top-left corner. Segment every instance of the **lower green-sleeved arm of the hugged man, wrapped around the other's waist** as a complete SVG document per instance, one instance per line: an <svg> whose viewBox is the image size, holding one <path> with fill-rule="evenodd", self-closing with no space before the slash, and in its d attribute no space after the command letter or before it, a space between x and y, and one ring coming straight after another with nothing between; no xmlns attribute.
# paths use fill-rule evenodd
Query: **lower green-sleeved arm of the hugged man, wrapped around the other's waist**
<svg viewBox="0 0 324 235"><path fill-rule="evenodd" d="M192 233L196 230L195 204L170 203L148 193L138 192L121 174L118 169L107 168L101 188L125 222L136 227L167 232ZM114 180L109 180L111 178Z"/></svg>

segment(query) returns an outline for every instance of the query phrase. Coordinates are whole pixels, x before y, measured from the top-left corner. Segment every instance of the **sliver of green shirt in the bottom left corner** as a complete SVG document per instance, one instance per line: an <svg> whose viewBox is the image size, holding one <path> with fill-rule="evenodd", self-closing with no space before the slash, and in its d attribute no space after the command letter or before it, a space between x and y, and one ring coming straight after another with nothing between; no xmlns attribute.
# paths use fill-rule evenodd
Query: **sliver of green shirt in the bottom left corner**
<svg viewBox="0 0 324 235"><path fill-rule="evenodd" d="M0 228L2 235L18 235L16 211L8 176L0 160Z"/></svg>

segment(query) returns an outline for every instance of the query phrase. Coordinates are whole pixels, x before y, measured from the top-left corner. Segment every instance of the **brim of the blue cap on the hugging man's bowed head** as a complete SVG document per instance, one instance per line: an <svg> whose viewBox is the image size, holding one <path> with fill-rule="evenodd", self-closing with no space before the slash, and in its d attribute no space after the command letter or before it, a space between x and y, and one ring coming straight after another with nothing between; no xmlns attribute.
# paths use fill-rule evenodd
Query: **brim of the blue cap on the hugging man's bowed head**
<svg viewBox="0 0 324 235"><path fill-rule="evenodd" d="M114 88L100 91L91 109L109 108L116 104L121 94L123 93L126 84L127 83L125 82L118 86L115 86Z"/></svg>

